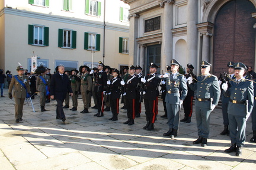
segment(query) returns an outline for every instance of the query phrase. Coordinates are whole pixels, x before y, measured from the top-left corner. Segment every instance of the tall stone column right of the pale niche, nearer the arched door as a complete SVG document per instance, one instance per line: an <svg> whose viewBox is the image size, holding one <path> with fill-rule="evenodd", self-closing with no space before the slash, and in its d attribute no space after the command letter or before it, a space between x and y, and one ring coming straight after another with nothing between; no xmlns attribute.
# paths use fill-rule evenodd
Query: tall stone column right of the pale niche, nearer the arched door
<svg viewBox="0 0 256 170"><path fill-rule="evenodd" d="M187 54L189 62L197 68L197 0L189 0L187 4Z"/></svg>

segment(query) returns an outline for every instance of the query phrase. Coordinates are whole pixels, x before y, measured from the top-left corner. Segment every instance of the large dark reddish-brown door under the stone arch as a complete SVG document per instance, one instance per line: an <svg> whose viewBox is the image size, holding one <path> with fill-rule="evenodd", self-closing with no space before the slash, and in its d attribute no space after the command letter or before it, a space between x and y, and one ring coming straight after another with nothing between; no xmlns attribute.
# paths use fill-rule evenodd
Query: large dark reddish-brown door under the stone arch
<svg viewBox="0 0 256 170"><path fill-rule="evenodd" d="M248 0L233 0L220 8L215 19L213 41L213 74L227 71L228 61L254 66L255 6Z"/></svg>

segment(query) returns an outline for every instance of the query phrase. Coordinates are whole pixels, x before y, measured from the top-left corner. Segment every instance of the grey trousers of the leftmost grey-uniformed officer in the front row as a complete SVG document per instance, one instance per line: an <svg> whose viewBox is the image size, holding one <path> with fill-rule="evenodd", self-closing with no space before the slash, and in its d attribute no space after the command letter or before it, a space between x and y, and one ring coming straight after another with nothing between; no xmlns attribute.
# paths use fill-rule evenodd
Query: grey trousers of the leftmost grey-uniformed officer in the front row
<svg viewBox="0 0 256 170"><path fill-rule="evenodd" d="M180 104L166 103L167 125L169 129L178 129L180 123Z"/></svg>

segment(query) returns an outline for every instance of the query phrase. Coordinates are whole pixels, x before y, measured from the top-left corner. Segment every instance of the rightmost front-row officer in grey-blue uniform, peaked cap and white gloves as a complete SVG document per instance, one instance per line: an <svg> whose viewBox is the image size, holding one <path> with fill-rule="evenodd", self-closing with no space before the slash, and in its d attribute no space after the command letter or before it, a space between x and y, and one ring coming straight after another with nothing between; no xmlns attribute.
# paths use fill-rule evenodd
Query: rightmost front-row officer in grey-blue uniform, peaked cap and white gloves
<svg viewBox="0 0 256 170"><path fill-rule="evenodd" d="M236 152L236 156L241 156L241 147L245 142L246 122L254 105L254 85L251 80L243 77L247 69L244 63L235 63L233 67L235 68L235 80L229 80L230 87L228 83L222 84L225 96L230 96L228 120L231 147L225 152Z"/></svg>

